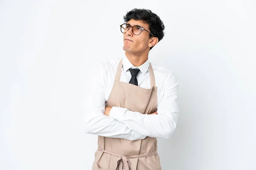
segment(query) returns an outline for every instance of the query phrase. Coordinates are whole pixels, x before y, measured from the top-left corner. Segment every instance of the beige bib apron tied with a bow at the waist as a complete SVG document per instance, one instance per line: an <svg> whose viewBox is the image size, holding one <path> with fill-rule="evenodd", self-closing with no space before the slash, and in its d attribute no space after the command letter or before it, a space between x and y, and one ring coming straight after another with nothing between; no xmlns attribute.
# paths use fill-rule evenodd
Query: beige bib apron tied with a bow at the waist
<svg viewBox="0 0 256 170"><path fill-rule="evenodd" d="M149 65L150 89L120 82L121 72L122 59L116 70L107 106L127 108L143 114L156 111L157 87L151 64ZM93 170L161 170L157 139L147 136L145 139L131 141L99 136Z"/></svg>

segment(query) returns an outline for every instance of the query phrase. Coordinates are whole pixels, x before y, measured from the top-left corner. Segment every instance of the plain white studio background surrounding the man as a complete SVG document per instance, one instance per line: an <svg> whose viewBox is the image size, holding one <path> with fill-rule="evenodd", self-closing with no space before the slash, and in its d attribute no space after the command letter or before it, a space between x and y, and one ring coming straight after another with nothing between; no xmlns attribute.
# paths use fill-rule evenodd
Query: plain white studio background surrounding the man
<svg viewBox="0 0 256 170"><path fill-rule="evenodd" d="M149 53L180 82L180 117L158 139L163 170L256 170L255 0L0 1L0 170L90 170L87 71L122 58L123 15L148 8Z"/></svg>

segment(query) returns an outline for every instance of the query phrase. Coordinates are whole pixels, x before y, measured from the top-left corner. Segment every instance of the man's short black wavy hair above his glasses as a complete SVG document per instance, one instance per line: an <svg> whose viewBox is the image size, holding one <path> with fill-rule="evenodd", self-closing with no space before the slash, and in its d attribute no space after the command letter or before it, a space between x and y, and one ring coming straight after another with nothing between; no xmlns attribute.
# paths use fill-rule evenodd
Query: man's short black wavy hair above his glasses
<svg viewBox="0 0 256 170"><path fill-rule="evenodd" d="M157 14L153 13L151 10L144 9L144 8L143 9L134 8L131 11L128 11L124 15L125 23L127 23L131 19L143 20L144 23L147 23L149 25L149 30L154 35L154 37L158 38L158 42L160 42L160 40L163 39L163 36L164 36L163 21L160 20L160 17L157 16ZM149 38L150 37L152 37L151 34L149 34ZM150 47L149 50L151 50L153 47Z"/></svg>

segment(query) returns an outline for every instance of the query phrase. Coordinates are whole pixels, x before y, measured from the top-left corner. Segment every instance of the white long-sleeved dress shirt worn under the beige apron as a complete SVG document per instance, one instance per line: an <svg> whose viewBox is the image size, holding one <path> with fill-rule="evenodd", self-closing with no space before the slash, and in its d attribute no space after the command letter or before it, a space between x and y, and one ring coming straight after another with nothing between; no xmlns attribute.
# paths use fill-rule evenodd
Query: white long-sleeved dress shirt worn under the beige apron
<svg viewBox="0 0 256 170"><path fill-rule="evenodd" d="M157 114L142 114L120 107L111 108L109 116L104 114L120 60L121 58L100 62L93 67L83 105L85 133L129 140L144 139L146 136L170 138L179 115L179 82L172 71L151 62L157 86ZM139 68L138 86L151 88L148 60L143 65L134 67L125 56L122 63L120 81L129 82L131 73L128 69Z"/></svg>

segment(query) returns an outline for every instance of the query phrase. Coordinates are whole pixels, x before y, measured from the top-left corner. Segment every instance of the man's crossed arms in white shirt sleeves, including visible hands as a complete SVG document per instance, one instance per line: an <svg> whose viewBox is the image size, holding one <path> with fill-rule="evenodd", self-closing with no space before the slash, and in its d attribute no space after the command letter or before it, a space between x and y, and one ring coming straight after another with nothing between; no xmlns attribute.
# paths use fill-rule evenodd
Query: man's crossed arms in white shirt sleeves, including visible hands
<svg viewBox="0 0 256 170"><path fill-rule="evenodd" d="M146 136L163 139L172 136L179 115L175 74L170 72L163 82L163 97L158 102L157 113L142 114L127 108L105 107L104 71L100 64L93 68L83 105L85 133L132 141Z"/></svg>

